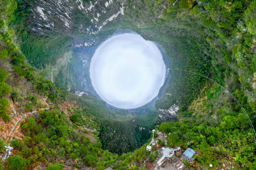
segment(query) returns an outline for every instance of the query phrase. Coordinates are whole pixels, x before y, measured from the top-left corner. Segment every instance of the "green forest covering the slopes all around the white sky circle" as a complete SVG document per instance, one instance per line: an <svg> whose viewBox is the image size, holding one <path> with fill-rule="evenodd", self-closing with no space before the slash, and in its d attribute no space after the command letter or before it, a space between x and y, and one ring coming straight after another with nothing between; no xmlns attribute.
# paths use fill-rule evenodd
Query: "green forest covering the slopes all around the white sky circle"
<svg viewBox="0 0 256 170"><path fill-rule="evenodd" d="M33 32L36 2L0 0L1 170L150 169L158 156L154 147L145 149L152 129L168 134L167 147L197 151L194 161L184 161L189 170L209 164L256 169L255 131L248 122L255 127L256 0L127 0L124 15L88 37L79 26L90 19L79 11L72 32ZM100 43L118 28L165 50L170 78L156 109L108 109L92 94L80 97L65 89L67 83L55 85L42 71L75 50L74 38ZM74 76L70 70L56 78L59 84ZM178 121L157 123L156 110L173 104L180 107ZM7 159L4 146L13 147Z"/></svg>

